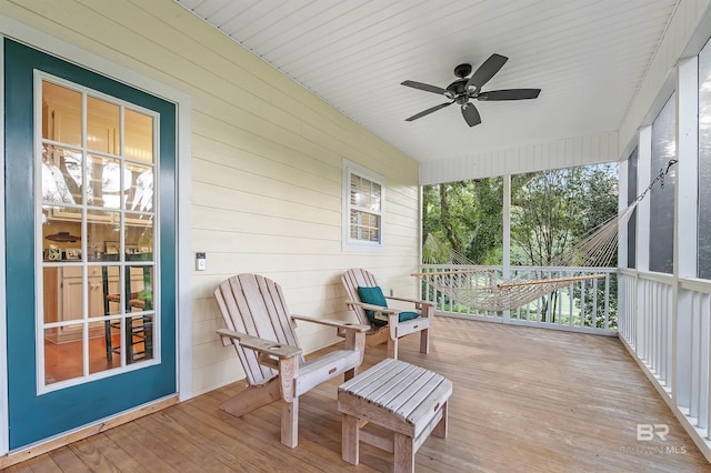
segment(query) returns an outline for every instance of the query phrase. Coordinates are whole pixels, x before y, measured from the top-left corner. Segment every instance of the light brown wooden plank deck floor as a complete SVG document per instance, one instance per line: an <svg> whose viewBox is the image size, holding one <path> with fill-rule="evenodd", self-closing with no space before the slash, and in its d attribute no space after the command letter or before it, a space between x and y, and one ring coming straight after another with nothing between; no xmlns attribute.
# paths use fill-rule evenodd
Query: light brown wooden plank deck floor
<svg viewBox="0 0 711 473"><path fill-rule="evenodd" d="M454 385L449 436L427 440L418 472L711 471L618 339L438 318L430 354L418 343L405 339L400 359ZM370 349L363 369L384 353ZM391 471L392 454L369 445L358 467L341 461L338 384L301 399L294 450L279 443L279 405L218 410L236 384L8 471ZM638 424L668 424L669 436L637 441Z"/></svg>

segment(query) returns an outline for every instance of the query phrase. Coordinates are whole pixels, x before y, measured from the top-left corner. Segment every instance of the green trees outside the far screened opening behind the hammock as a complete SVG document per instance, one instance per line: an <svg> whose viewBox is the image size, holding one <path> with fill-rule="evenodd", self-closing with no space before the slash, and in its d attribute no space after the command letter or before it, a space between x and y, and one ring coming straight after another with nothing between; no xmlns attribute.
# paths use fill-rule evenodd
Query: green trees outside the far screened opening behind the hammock
<svg viewBox="0 0 711 473"><path fill-rule="evenodd" d="M445 261L450 250L481 265L502 263L503 180L482 179L428 185L423 192L423 254ZM571 249L617 214L617 165L592 165L511 178L511 263L564 265ZM617 264L617 260L613 261ZM543 276L542 274L540 275ZM611 282L615 284L615 281ZM611 288L612 290L614 288ZM597 295L595 295L597 293ZM611 291L611 294L613 292ZM578 289L575 305L590 314L604 288ZM543 296L540 318L555 314L558 293ZM617 301L609 301L617 314ZM598 314L601 316L601 314ZM587 322L588 323L588 322ZM590 321L590 323L601 323Z"/></svg>

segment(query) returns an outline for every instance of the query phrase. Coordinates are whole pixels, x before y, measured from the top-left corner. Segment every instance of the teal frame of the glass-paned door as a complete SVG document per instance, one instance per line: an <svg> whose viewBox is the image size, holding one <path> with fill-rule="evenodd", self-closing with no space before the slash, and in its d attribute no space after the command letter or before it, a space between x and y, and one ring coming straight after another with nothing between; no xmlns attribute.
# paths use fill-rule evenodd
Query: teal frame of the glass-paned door
<svg viewBox="0 0 711 473"><path fill-rule="evenodd" d="M91 424L166 395L174 394L176 363L176 105L34 49L4 41L6 113L6 301L8 346L9 447L23 445ZM34 246L27 239L34 230L32 71L57 77L111 94L160 113L161 139L161 364L66 390L37 395L34 346ZM29 100L29 101L28 101ZM29 107L28 107L29 104ZM171 158L172 157L172 158ZM172 210L171 210L172 209ZM31 262L31 263L29 263ZM30 336L31 334L31 336ZM150 386L131 390L127 386ZM82 402L77 402L82 400ZM91 402L90 402L91 400Z"/></svg>

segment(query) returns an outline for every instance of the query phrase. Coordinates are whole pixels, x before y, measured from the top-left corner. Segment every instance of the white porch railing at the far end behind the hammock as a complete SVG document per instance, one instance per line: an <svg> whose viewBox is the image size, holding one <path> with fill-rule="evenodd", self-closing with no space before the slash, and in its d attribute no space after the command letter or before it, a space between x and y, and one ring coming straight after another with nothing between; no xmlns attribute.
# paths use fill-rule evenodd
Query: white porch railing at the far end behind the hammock
<svg viewBox="0 0 711 473"><path fill-rule="evenodd" d="M461 271L487 270L482 273L462 274ZM573 278L591 274L603 274L601 279L573 281L554 292L547 293L533 302L505 311L484 311L464 305L452 300L435 286L422 281L421 296L437 303L439 315L450 315L487 320L491 322L533 325L547 329L570 330L612 335L618 329L617 304L617 268L543 268L511 266L504 278L502 266L424 264L422 272L447 272L454 274L448 284L468 290L480 288L480 278L491 279L495 274L498 281L540 280L554 278Z"/></svg>

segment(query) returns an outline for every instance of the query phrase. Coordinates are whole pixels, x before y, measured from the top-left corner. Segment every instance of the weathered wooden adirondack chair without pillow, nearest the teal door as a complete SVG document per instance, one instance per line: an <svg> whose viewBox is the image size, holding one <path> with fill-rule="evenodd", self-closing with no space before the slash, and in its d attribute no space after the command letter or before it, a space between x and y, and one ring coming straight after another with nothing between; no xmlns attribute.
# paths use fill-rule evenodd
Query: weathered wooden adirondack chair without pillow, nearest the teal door
<svg viewBox="0 0 711 473"><path fill-rule="evenodd" d="M281 286L258 274L238 274L214 291L227 329L218 330L222 343L237 349L249 388L224 401L220 409L241 416L283 400L281 443L298 444L299 396L341 373L358 374L363 361L367 325L292 315ZM336 326L346 338L344 350L304 362L296 321Z"/></svg>

